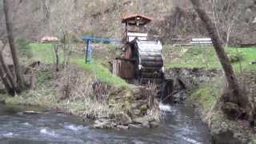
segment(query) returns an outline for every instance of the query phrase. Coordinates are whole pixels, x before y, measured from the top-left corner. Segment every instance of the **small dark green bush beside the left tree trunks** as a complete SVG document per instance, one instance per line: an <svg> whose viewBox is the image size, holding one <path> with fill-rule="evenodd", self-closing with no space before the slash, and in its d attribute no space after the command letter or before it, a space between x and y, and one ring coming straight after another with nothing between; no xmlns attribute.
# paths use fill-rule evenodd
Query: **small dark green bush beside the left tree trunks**
<svg viewBox="0 0 256 144"><path fill-rule="evenodd" d="M22 56L25 56L26 58L33 57L33 53L30 48L30 42L28 40L21 38L21 39L18 39L16 43L17 43L19 54L21 54Z"/></svg>

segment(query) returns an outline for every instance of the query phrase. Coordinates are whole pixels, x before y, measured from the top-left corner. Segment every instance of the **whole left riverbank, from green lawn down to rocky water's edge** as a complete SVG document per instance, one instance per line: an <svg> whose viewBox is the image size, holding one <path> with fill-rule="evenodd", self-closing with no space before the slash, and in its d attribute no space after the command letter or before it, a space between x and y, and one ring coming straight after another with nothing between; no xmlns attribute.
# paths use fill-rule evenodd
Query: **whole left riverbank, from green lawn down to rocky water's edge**
<svg viewBox="0 0 256 144"><path fill-rule="evenodd" d="M25 43L25 44L24 44ZM59 51L58 71L51 44L22 42L26 54L22 61L38 62L32 67L34 86L14 98L1 95L6 104L44 106L81 118L94 120L93 127L107 129L152 128L158 126L162 115L158 103L149 104L154 86L134 86L111 74L109 63L118 52L113 45L96 44L93 63L85 63L82 49L77 44L66 63L65 51ZM24 47L24 46L23 46ZM106 55L108 54L108 55Z"/></svg>

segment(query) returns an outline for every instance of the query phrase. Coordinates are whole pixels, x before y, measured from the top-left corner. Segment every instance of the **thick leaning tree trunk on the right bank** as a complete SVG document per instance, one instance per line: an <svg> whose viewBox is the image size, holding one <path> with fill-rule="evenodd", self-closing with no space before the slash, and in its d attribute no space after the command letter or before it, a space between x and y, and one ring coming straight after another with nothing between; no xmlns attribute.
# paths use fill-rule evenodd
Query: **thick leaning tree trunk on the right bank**
<svg viewBox="0 0 256 144"><path fill-rule="evenodd" d="M210 18L206 14L206 11L202 9L202 6L198 0L190 0L194 6L194 10L198 13L199 18L201 18L202 22L206 26L206 30L208 31L210 38L213 41L214 49L216 54L218 55L218 59L222 64L222 68L226 75L226 81L228 84L228 90L230 91L229 100L230 102L234 102L238 104L238 106L244 106L245 102L242 98L241 90L238 86L238 80L235 77L234 70L230 64L230 60L225 53L224 47L222 46L222 41L218 37L218 32L216 27L214 27L213 22L211 22Z"/></svg>

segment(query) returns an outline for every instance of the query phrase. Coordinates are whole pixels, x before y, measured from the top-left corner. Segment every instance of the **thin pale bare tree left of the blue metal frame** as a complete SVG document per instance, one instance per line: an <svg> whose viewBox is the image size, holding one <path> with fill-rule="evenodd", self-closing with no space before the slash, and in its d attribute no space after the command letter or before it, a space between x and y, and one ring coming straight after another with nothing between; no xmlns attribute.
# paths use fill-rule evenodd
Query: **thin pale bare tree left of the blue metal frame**
<svg viewBox="0 0 256 144"><path fill-rule="evenodd" d="M74 48L71 33L82 14L76 10L78 6L76 0L73 2L67 0L63 0L64 2L56 1L55 6L50 6L51 3L48 1L45 2L45 12L49 21L49 33L59 38L59 42L53 44L56 70L58 71L59 63L64 62L64 66L66 66L70 59L70 54ZM63 57L60 54L63 54ZM60 58L63 58L63 61Z"/></svg>

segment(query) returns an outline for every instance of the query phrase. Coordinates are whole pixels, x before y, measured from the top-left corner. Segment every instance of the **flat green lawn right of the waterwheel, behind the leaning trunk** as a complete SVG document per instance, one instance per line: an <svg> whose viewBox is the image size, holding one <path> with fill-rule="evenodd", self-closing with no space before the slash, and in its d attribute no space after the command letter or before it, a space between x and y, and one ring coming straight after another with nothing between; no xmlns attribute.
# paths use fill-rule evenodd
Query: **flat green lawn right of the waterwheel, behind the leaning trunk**
<svg viewBox="0 0 256 144"><path fill-rule="evenodd" d="M218 57L213 47L172 47L164 46L165 66L170 67L206 67L221 68ZM226 48L227 53L236 54L235 48ZM255 48L238 48L238 53L242 53L242 70L256 70L256 65L250 62L256 61ZM234 70L240 70L239 62L232 63Z"/></svg>

